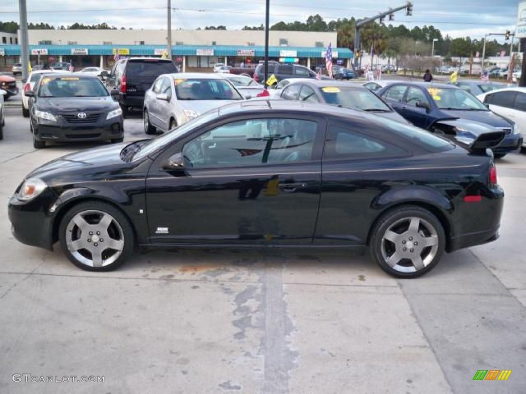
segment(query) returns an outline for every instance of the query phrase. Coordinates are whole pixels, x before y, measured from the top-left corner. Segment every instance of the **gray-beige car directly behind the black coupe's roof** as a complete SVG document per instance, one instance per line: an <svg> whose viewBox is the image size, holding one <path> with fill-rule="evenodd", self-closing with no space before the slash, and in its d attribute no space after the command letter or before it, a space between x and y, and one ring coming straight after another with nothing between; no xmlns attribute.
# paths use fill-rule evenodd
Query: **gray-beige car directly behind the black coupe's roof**
<svg viewBox="0 0 526 394"><path fill-rule="evenodd" d="M369 89L335 80L299 80L281 91L284 100L321 102L338 107L375 113L384 118L409 123Z"/></svg>

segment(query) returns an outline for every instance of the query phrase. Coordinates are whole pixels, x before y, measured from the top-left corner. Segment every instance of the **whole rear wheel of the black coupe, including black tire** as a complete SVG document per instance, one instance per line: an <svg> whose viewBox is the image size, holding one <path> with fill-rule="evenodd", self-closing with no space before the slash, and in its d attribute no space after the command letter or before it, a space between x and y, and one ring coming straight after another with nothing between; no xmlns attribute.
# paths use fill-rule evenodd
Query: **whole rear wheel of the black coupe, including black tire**
<svg viewBox="0 0 526 394"><path fill-rule="evenodd" d="M406 205L387 211L371 234L372 258L383 271L399 278L416 278L431 271L446 247L442 224L419 206Z"/></svg>

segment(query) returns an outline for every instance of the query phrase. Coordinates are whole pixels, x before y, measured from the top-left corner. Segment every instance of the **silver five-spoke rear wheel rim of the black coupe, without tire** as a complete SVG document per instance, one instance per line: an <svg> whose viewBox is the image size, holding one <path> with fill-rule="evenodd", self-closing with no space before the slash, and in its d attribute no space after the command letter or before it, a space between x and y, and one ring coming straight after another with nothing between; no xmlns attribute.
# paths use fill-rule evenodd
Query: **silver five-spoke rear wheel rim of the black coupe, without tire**
<svg viewBox="0 0 526 394"><path fill-rule="evenodd" d="M404 217L382 236L383 260L395 271L413 273L426 268L439 250L437 230L420 217Z"/></svg>

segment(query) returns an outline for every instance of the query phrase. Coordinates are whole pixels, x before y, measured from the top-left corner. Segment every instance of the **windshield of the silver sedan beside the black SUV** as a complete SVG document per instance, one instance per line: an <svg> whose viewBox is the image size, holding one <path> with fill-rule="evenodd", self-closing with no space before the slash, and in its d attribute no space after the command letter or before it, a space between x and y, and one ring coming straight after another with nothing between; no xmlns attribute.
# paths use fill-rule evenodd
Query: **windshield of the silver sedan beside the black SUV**
<svg viewBox="0 0 526 394"><path fill-rule="evenodd" d="M179 100L243 100L244 98L224 79L174 79L175 95Z"/></svg>

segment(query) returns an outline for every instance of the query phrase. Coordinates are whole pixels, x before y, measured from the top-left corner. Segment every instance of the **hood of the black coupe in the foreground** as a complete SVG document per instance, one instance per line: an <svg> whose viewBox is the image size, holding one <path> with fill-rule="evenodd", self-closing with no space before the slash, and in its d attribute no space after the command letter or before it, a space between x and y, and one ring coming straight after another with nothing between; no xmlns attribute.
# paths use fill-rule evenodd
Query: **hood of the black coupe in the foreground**
<svg viewBox="0 0 526 394"><path fill-rule="evenodd" d="M67 183L69 176L73 174L89 173L97 174L98 168L104 168L104 172L113 171L117 168L129 167L129 163L120 159L120 151L129 143L112 144L110 146L86 149L71 153L58 159L47 162L36 168L26 178L38 177L47 184Z"/></svg>

